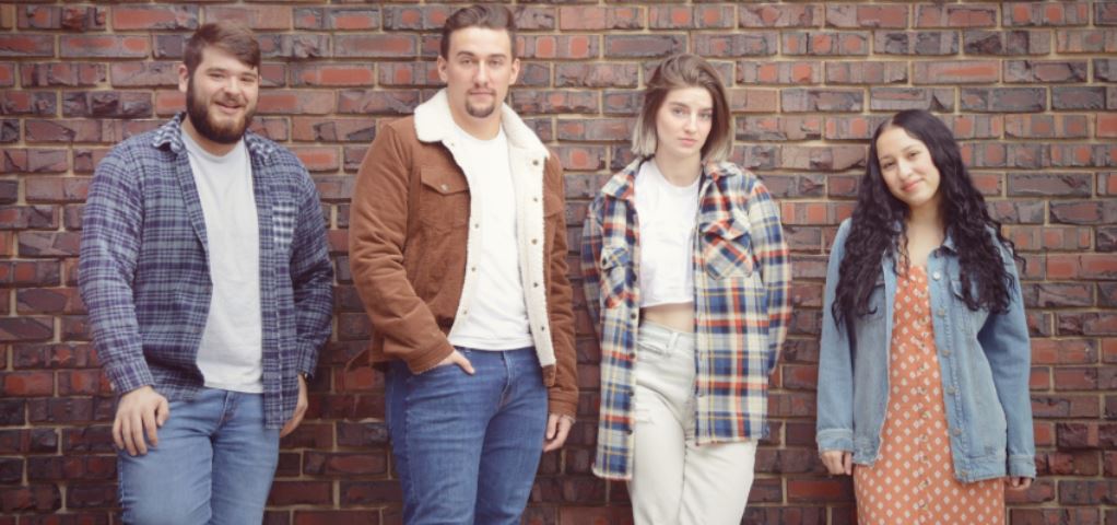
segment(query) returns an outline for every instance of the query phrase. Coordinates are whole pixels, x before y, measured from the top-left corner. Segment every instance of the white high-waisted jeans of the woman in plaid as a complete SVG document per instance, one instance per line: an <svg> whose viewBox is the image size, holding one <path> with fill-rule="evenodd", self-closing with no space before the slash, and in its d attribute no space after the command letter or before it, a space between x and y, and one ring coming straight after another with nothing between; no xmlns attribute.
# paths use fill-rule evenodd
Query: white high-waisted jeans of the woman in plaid
<svg viewBox="0 0 1117 525"><path fill-rule="evenodd" d="M695 336L645 322L637 337L629 497L637 525L736 525L756 441L695 442Z"/></svg>

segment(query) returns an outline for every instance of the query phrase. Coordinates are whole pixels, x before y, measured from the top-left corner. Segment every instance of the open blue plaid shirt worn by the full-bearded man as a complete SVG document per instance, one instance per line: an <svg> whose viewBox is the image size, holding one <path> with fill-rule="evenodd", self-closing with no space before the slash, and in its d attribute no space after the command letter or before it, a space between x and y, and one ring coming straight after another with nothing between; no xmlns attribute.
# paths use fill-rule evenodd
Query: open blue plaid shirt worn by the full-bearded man
<svg viewBox="0 0 1117 525"><path fill-rule="evenodd" d="M97 165L82 219L79 287L113 388L169 400L202 388L198 346L212 284L206 220L182 143L183 114ZM288 150L245 135L259 219L264 412L280 428L330 336L333 269L318 193Z"/></svg>

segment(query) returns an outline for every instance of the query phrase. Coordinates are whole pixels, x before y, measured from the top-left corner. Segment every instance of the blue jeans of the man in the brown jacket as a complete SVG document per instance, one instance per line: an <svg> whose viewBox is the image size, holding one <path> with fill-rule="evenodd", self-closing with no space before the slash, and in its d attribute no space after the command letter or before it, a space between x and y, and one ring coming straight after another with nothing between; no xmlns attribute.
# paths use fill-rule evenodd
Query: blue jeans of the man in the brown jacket
<svg viewBox="0 0 1117 525"><path fill-rule="evenodd" d="M543 454L547 392L535 349L458 349L412 374L393 361L388 426L407 524L518 524Z"/></svg>

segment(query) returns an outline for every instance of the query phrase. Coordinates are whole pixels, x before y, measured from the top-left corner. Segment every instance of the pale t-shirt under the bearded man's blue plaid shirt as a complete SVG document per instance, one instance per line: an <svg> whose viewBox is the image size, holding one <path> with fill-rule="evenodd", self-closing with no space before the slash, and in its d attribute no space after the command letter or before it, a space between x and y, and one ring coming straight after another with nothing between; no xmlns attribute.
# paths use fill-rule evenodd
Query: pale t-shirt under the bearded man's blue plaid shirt
<svg viewBox="0 0 1117 525"><path fill-rule="evenodd" d="M208 388L259 393L264 391L260 229L248 149L240 141L226 155L216 156L185 131L182 142L206 216L213 284L198 367Z"/></svg>

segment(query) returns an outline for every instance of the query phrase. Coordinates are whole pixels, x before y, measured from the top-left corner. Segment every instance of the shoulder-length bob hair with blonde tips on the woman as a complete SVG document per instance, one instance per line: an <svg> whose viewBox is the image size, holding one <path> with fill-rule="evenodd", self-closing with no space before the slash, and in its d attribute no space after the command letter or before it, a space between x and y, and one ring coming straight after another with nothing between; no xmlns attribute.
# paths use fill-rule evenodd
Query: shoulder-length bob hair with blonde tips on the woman
<svg viewBox="0 0 1117 525"><path fill-rule="evenodd" d="M690 54L667 57L648 80L643 92L643 107L632 131L632 153L648 157L656 154L656 115L671 89L701 87L709 92L714 101L714 122L709 136L701 146L703 162L728 159L733 151L733 132L729 123L729 103L725 97L722 77L706 59Z"/></svg>

